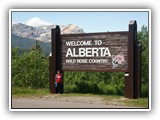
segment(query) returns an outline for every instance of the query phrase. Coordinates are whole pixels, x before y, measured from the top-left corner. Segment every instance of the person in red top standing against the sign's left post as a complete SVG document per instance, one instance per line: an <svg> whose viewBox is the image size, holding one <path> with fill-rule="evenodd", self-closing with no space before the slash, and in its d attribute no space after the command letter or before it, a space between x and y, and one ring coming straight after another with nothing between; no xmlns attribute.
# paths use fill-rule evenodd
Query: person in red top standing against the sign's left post
<svg viewBox="0 0 160 120"><path fill-rule="evenodd" d="M62 73L60 70L57 70L55 80L56 93L60 94L62 93Z"/></svg>

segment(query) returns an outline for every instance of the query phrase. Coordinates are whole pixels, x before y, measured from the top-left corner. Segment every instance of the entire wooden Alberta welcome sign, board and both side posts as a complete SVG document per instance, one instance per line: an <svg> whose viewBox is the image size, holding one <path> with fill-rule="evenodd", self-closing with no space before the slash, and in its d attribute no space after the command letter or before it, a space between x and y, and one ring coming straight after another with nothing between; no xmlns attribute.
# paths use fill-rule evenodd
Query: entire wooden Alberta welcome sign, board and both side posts
<svg viewBox="0 0 160 120"><path fill-rule="evenodd" d="M55 93L57 70L125 73L125 97L140 97L141 44L137 42L137 23L130 21L129 31L60 34L52 32L49 57L50 92Z"/></svg>

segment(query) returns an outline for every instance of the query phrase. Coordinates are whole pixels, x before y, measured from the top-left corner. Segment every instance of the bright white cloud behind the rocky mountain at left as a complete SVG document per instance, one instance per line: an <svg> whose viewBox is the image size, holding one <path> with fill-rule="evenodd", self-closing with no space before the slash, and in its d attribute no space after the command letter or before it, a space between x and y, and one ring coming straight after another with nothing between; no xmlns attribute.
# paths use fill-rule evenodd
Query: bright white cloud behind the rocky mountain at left
<svg viewBox="0 0 160 120"><path fill-rule="evenodd" d="M43 26L43 25L52 25L53 23L41 20L38 17L34 17L28 21L25 22L25 24L30 25L30 26Z"/></svg>

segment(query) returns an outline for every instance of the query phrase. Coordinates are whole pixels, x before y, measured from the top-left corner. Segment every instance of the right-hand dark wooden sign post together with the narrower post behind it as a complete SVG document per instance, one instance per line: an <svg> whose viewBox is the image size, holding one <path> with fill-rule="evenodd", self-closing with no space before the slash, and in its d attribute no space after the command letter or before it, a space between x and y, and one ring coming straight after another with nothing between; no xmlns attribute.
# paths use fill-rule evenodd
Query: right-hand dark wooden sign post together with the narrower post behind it
<svg viewBox="0 0 160 120"><path fill-rule="evenodd" d="M137 47L137 23L136 21L130 21L129 23L129 36L128 36L128 72L125 74L125 97L126 98L138 98L140 97L140 88L138 84L140 82L140 60L138 57ZM138 90L139 89L139 90Z"/></svg>

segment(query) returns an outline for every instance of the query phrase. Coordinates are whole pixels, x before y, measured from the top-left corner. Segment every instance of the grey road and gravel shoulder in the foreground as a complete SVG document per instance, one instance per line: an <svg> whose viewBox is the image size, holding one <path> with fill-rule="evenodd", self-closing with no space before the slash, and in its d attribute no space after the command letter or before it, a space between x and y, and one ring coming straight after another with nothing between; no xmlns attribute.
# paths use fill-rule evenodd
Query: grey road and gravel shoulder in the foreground
<svg viewBox="0 0 160 120"><path fill-rule="evenodd" d="M122 98L125 99L125 98ZM47 95L32 98L12 98L12 108L139 108L126 106L116 100L104 101L98 96Z"/></svg>

